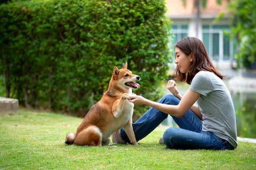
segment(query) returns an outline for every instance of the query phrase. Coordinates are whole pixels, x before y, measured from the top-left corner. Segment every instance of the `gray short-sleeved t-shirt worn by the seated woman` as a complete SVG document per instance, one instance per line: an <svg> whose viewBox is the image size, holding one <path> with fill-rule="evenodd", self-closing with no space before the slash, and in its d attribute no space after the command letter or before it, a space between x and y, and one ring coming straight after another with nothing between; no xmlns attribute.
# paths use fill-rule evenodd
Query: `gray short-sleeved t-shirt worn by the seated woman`
<svg viewBox="0 0 256 170"><path fill-rule="evenodd" d="M236 148L236 114L224 82L212 72L199 71L192 79L189 90L201 94L197 103L203 115L202 130L212 132Z"/></svg>

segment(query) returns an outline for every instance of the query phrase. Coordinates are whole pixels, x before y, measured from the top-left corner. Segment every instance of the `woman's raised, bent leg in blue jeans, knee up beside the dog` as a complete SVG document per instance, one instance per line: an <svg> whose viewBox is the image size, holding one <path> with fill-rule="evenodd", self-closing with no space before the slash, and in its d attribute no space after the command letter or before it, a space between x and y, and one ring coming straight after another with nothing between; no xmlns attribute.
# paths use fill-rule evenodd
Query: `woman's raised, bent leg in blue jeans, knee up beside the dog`
<svg viewBox="0 0 256 170"><path fill-rule="evenodd" d="M169 94L164 96L158 102L168 105L178 105L180 100L177 99L177 97ZM167 117L168 114L155 108L150 108L143 116L140 117L140 119L132 124L137 142L151 133ZM201 131L201 120L190 110L182 118L173 117L173 119L180 128L197 132ZM124 129L120 130L120 134L125 142L130 143Z"/></svg>

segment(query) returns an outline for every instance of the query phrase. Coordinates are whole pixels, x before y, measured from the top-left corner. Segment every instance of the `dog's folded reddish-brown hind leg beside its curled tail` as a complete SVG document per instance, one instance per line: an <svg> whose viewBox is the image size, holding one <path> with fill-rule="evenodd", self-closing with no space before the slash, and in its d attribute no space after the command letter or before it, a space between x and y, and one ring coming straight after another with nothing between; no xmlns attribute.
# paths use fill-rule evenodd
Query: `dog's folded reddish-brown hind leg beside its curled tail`
<svg viewBox="0 0 256 170"><path fill-rule="evenodd" d="M90 126L76 134L74 144L79 145L102 145L102 133L96 126Z"/></svg>

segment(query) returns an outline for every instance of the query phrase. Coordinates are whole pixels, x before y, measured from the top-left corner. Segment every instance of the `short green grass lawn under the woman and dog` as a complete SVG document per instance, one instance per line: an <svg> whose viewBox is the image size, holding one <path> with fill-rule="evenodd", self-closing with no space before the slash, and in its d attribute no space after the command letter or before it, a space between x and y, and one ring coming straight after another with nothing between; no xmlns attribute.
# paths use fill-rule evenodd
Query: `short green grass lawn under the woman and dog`
<svg viewBox="0 0 256 170"><path fill-rule="evenodd" d="M239 142L236 150L170 150L158 140L157 127L138 146L104 147L64 144L82 119L21 110L0 115L0 169L256 169L256 144Z"/></svg>

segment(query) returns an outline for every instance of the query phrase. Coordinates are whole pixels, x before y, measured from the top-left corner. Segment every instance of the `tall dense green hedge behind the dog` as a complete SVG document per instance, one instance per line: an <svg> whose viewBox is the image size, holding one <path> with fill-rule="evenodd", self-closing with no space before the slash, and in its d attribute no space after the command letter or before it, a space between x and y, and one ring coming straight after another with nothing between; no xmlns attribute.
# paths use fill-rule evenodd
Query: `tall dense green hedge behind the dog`
<svg viewBox="0 0 256 170"><path fill-rule="evenodd" d="M84 115L107 90L113 67L128 62L142 78L135 93L159 99L172 59L165 12L164 0L2 4L0 73L9 95L22 105Z"/></svg>

